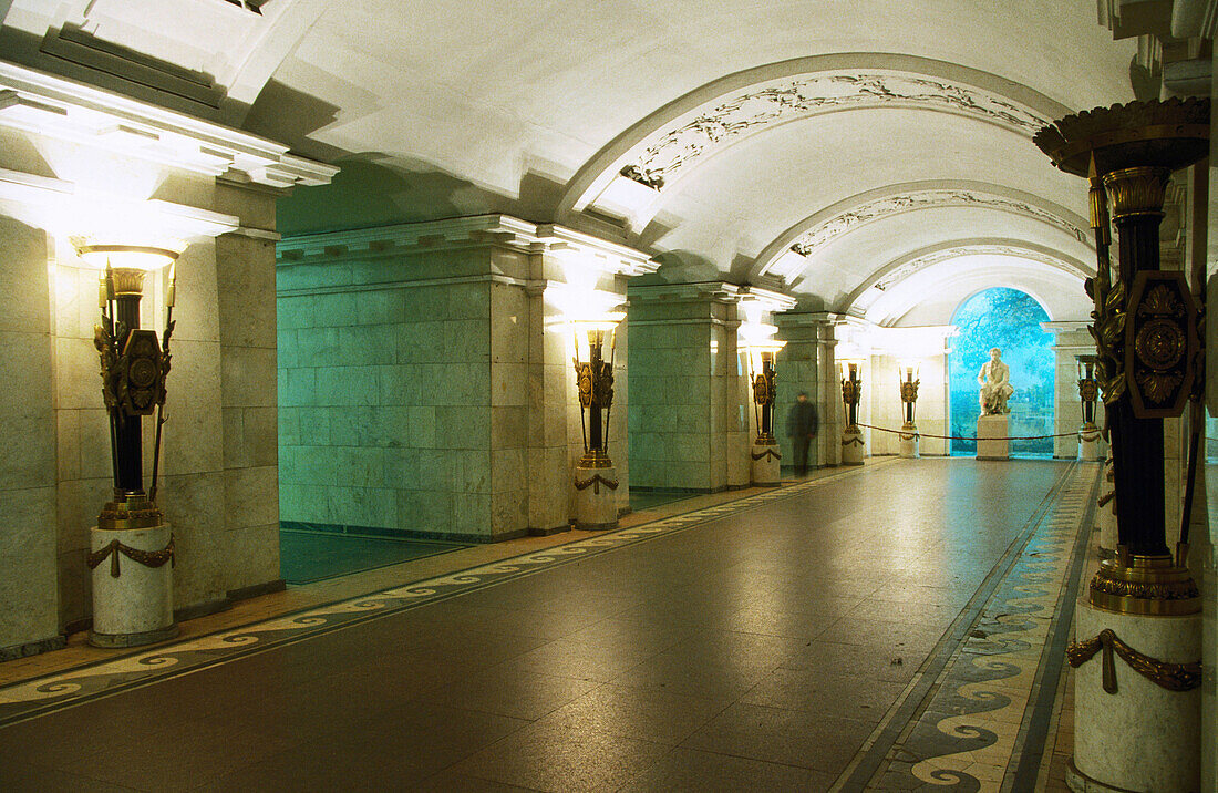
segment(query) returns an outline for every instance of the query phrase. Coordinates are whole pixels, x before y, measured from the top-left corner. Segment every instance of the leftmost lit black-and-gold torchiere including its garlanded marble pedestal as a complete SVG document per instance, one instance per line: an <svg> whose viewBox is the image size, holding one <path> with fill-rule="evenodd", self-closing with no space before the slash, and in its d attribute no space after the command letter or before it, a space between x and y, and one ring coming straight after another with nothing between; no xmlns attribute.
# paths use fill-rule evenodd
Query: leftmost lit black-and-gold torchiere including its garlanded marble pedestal
<svg viewBox="0 0 1218 793"><path fill-rule="evenodd" d="M156 504L164 424L169 336L173 334L174 262L179 251L135 245L79 244L85 262L101 268L101 323L94 345L101 357L101 393L110 420L113 501L91 532L93 631L99 647L133 647L169 638L173 622L173 534ZM140 298L150 272L169 266L162 339L140 328ZM152 475L144 487L143 418L156 415ZM104 564L105 563L105 564Z"/></svg>

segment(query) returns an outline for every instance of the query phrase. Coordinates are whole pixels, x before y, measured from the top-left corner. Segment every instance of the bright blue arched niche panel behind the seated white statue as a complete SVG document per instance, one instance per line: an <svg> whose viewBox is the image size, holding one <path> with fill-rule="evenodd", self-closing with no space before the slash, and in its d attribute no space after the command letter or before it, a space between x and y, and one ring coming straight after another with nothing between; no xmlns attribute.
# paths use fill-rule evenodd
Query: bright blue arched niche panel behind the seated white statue
<svg viewBox="0 0 1218 793"><path fill-rule="evenodd" d="M977 373L991 347L1002 351L1002 361L1011 368L1011 436L1054 432L1052 335L1040 328L1047 319L1035 298L1005 286L977 292L960 303L951 320L959 328L949 363L951 435L972 437L977 432ZM1010 448L1012 456L1052 457L1054 442L1051 437L1011 441ZM952 440L951 453L976 454L977 442Z"/></svg>

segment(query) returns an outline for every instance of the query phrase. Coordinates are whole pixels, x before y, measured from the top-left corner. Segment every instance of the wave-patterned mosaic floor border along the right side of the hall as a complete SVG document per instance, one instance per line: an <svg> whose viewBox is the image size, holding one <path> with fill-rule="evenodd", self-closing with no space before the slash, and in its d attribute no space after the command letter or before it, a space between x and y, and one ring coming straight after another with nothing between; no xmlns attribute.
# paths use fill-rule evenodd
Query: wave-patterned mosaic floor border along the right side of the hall
<svg viewBox="0 0 1218 793"><path fill-rule="evenodd" d="M1097 478L1063 473L834 791L1030 789L1019 758L1052 709Z"/></svg>

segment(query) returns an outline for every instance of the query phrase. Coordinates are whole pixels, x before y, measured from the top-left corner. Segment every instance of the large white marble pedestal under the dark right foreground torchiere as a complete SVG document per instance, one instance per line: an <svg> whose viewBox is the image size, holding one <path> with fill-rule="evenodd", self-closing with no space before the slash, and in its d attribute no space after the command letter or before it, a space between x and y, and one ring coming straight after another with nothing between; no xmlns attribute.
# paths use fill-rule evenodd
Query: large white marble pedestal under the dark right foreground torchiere
<svg viewBox="0 0 1218 793"><path fill-rule="evenodd" d="M1111 629L1117 638L1169 663L1201 660L1201 614L1139 616L1093 607L1084 596L1075 641ZM1168 691L1113 653L1117 693L1104 691L1104 650L1074 670L1073 791L1185 793L1201 786L1201 689Z"/></svg>

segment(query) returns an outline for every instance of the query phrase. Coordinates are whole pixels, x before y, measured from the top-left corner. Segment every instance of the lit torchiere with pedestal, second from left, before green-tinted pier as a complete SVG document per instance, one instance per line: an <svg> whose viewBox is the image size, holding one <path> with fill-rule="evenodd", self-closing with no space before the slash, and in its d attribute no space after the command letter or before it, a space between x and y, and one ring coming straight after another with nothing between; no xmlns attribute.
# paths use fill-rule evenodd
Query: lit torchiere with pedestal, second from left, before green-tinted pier
<svg viewBox="0 0 1218 793"><path fill-rule="evenodd" d="M622 312L570 323L575 337L575 382L580 395L583 457L575 468L575 525L611 529L618 525L616 471L609 458L609 414L613 408L613 363ZM609 354L605 357L608 342Z"/></svg>

